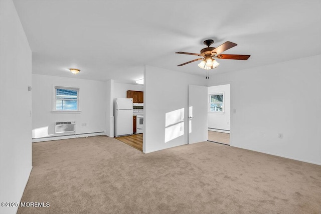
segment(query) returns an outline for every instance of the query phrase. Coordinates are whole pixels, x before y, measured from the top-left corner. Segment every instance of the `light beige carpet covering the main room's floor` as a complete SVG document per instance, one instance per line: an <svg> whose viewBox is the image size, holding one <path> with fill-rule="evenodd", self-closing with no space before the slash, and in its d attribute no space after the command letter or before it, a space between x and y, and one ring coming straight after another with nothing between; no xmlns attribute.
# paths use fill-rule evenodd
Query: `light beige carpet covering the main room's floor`
<svg viewBox="0 0 321 214"><path fill-rule="evenodd" d="M33 144L18 213L320 213L321 166L211 142L143 154L97 136Z"/></svg>

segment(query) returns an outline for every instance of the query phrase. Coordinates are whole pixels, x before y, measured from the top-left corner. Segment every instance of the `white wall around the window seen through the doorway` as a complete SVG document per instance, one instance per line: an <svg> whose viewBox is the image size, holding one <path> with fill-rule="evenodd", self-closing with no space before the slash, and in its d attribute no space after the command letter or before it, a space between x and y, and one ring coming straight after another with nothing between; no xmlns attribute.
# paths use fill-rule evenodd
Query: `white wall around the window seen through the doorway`
<svg viewBox="0 0 321 214"><path fill-rule="evenodd" d="M230 130L230 114L231 114L231 102L230 102L230 85L218 85L208 87L208 94L224 93L224 112L208 112L207 123L209 128ZM210 130L210 129L209 129ZM220 131L220 130L216 130Z"/></svg>

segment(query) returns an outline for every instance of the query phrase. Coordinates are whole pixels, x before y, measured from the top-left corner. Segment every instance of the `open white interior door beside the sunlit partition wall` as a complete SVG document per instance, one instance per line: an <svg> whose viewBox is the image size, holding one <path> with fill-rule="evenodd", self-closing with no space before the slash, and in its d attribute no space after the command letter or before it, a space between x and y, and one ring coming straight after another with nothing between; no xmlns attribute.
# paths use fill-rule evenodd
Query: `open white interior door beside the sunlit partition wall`
<svg viewBox="0 0 321 214"><path fill-rule="evenodd" d="M207 141L207 87L189 85L189 144Z"/></svg>

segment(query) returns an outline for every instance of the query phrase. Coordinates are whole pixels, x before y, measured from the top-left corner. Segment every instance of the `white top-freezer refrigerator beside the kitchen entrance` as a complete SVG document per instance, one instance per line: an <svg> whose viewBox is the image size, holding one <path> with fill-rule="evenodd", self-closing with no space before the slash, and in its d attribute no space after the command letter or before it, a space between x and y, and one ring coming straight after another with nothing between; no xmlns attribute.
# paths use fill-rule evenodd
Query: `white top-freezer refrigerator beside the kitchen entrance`
<svg viewBox="0 0 321 214"><path fill-rule="evenodd" d="M114 136L131 135L132 132L132 98L114 99Z"/></svg>

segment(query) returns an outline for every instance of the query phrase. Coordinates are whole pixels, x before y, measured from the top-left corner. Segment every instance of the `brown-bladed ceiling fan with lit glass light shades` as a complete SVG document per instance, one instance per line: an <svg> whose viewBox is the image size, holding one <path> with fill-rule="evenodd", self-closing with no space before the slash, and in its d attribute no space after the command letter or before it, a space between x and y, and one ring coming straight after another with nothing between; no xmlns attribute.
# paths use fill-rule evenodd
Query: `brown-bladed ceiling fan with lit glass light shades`
<svg viewBox="0 0 321 214"><path fill-rule="evenodd" d="M187 52L176 52L176 54L187 54L187 55L195 55L200 56L202 58L195 59L186 63L183 63L178 66L183 66L195 61L202 60L198 66L205 70L210 70L213 68L216 68L218 65L220 65L214 58L218 59L228 59L228 60L247 60L251 55L235 55L235 54L221 54L223 51L226 51L230 48L233 48L234 46L237 46L237 44L232 42L225 42L222 45L220 45L217 48L212 48L210 45L214 43L214 40L205 40L204 45L207 46L207 48L203 48L201 50L200 54L194 54L194 53L187 53Z"/></svg>

